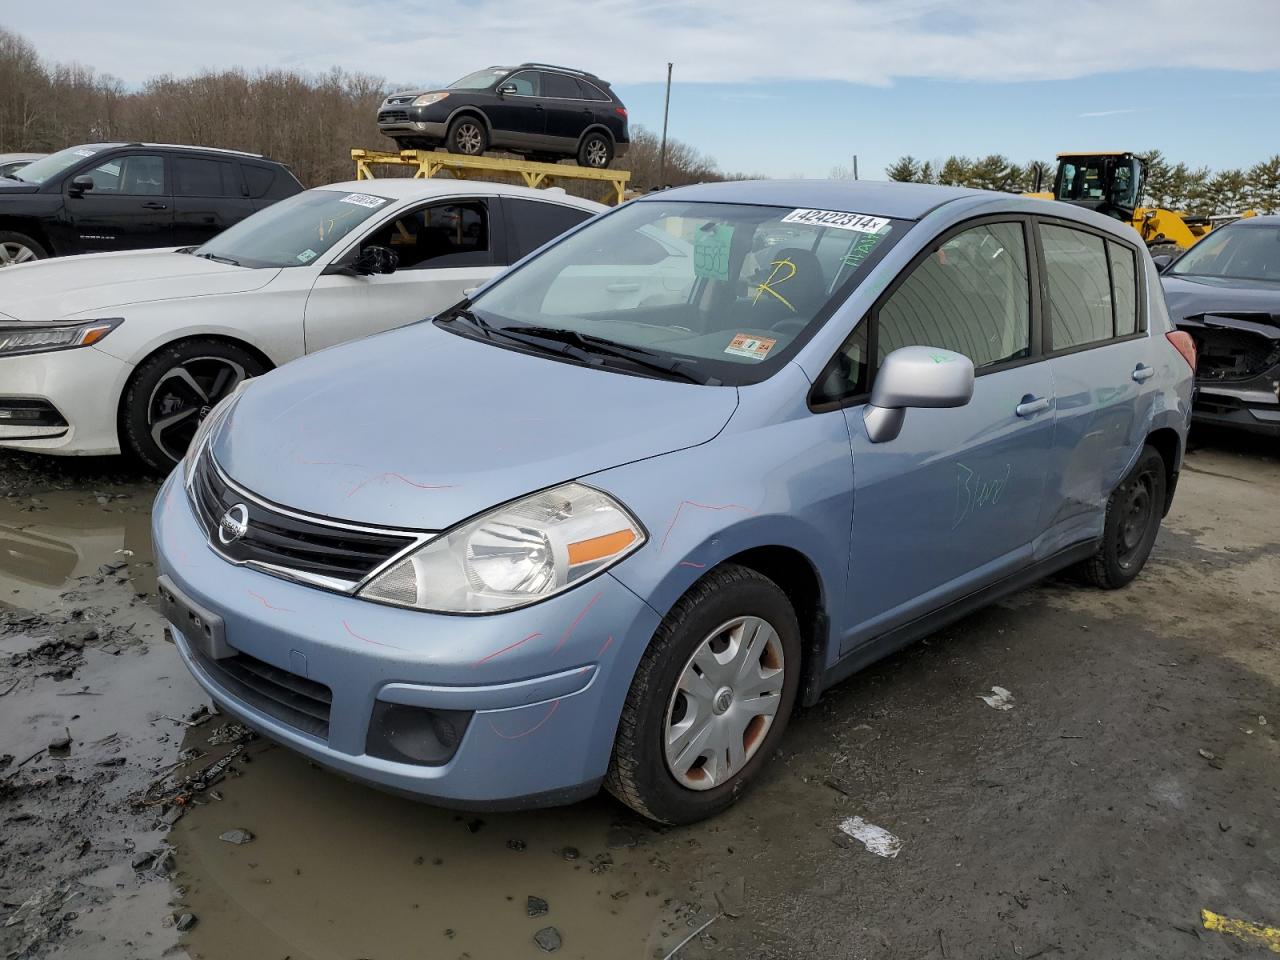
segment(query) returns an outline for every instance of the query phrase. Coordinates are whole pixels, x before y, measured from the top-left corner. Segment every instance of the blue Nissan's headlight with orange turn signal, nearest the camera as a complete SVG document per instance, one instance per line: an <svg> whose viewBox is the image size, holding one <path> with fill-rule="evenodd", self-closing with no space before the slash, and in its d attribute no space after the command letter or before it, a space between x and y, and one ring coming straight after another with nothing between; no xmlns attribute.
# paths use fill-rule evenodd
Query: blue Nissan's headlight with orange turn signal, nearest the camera
<svg viewBox="0 0 1280 960"><path fill-rule="evenodd" d="M553 596L645 541L608 494L564 484L470 520L371 580L370 600L440 613L492 613Z"/></svg>

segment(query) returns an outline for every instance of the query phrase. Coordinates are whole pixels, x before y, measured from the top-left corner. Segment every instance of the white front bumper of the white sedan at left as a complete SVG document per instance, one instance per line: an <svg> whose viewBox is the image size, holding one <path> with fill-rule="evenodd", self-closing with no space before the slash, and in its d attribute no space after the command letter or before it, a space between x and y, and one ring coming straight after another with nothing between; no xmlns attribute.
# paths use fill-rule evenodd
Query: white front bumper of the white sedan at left
<svg viewBox="0 0 1280 960"><path fill-rule="evenodd" d="M45 401L65 425L29 426L0 420L0 448L33 453L119 453L115 415L133 367L96 347L0 357L5 399Z"/></svg>

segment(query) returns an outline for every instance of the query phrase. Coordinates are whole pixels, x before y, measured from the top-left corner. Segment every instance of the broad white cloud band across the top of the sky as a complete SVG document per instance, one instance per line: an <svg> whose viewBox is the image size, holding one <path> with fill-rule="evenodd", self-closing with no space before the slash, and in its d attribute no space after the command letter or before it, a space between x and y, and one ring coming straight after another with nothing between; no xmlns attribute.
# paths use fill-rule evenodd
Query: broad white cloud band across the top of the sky
<svg viewBox="0 0 1280 960"><path fill-rule="evenodd" d="M1162 68L1272 70L1280 47L1277 0L1075 0L1061 17L1025 0L963 14L952 0L63 0L56 19L8 6L4 26L45 56L129 83L233 65L420 83L525 59L616 83L660 82L668 60L682 83L1036 81L1151 65L1139 49Z"/></svg>

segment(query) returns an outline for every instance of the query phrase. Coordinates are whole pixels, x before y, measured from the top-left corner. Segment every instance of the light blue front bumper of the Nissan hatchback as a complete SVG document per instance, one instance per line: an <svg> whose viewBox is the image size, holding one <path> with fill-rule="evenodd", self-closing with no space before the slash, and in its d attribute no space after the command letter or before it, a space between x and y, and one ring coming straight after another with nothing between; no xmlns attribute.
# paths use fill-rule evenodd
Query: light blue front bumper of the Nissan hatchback
<svg viewBox="0 0 1280 960"><path fill-rule="evenodd" d="M451 806L517 808L594 792L622 703L658 616L608 573L518 611L444 616L302 586L224 561L191 509L180 468L152 516L157 572L223 622L234 652L332 691L328 730L247 696L175 640L188 669L227 712L266 736L374 786ZM216 663L216 662L215 662ZM293 681L284 678L285 684ZM378 704L471 714L438 765L367 751Z"/></svg>

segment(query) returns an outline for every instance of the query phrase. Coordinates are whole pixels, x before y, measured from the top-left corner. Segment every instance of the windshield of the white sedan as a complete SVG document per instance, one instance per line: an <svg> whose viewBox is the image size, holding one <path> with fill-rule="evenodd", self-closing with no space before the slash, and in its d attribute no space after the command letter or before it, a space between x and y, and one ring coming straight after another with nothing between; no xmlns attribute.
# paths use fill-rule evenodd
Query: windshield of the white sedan
<svg viewBox="0 0 1280 960"><path fill-rule="evenodd" d="M192 252L239 266L306 266L390 200L308 189L241 220Z"/></svg>

